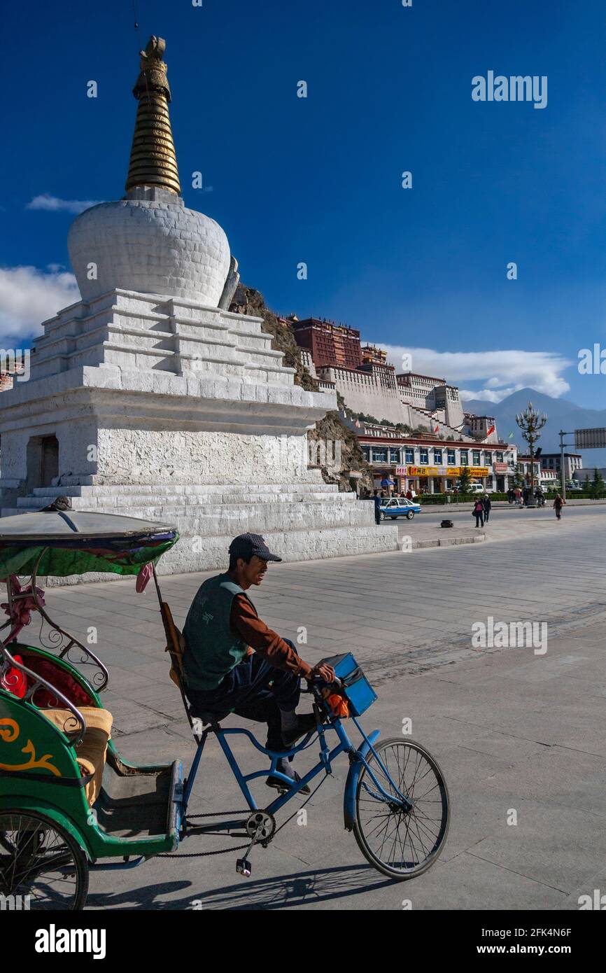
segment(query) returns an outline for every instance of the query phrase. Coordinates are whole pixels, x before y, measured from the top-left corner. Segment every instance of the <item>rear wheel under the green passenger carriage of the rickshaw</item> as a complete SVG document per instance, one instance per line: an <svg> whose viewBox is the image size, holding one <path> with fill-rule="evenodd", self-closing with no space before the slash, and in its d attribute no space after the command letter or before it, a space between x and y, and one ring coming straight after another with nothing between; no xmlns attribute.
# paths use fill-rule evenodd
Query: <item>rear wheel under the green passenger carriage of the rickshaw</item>
<svg viewBox="0 0 606 973"><path fill-rule="evenodd" d="M87 856L67 831L38 811L0 811L0 894L21 896L21 908L74 910L88 891Z"/></svg>

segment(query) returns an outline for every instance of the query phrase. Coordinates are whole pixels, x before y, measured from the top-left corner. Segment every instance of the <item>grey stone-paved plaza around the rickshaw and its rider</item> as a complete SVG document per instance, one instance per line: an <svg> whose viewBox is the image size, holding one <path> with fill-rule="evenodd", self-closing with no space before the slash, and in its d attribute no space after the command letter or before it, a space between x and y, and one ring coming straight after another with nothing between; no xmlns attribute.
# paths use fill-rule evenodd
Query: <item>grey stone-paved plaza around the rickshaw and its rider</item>
<svg viewBox="0 0 606 973"><path fill-rule="evenodd" d="M354 652L379 697L363 718L367 729L400 737L410 718L411 737L440 762L452 818L445 850L424 876L391 883L365 863L342 827L343 759L307 804L306 824L291 821L254 851L251 879L235 875L233 851L188 857L230 839L191 838L178 859L93 873L89 907L400 910L410 899L413 909L551 910L605 892L605 524L579 512L550 522L540 542L536 531L516 530L513 539L410 557L277 564L253 593L282 634L304 627L300 651L311 663ZM203 577L162 579L178 624ZM132 580L54 589L48 606L68 630L98 629L111 672L105 704L126 758L181 756L188 765L194 746L168 679L154 592L135 595ZM547 653L474 648L471 626L488 616L547 623ZM237 747L248 770L259 768L251 749ZM256 788L260 802L264 790ZM241 807L211 740L192 811ZM508 825L513 811L517 825Z"/></svg>

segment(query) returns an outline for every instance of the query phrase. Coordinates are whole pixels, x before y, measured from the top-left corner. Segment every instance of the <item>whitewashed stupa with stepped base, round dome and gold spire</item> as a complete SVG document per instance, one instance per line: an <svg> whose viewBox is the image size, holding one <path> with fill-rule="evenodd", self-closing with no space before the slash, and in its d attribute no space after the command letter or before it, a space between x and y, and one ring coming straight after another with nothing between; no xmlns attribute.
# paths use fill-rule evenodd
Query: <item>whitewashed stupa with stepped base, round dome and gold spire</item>
<svg viewBox="0 0 606 973"><path fill-rule="evenodd" d="M164 570L226 563L232 537L285 559L397 548L373 504L307 463L333 393L308 392L261 318L229 307L237 265L180 196L164 42L141 53L126 196L70 229L82 300L44 322L31 377L2 394L2 515L66 495L76 510L176 523Z"/></svg>

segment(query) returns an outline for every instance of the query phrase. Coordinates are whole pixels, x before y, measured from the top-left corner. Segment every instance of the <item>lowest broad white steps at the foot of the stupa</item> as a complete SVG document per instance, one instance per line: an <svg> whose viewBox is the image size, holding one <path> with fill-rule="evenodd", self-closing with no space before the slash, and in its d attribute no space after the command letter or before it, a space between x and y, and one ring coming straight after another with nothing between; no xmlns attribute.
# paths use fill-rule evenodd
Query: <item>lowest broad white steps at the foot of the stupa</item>
<svg viewBox="0 0 606 973"><path fill-rule="evenodd" d="M374 506L327 484L255 486L49 486L18 497L2 516L40 510L57 496L74 510L176 524L181 538L159 573L225 568L232 538L261 533L286 561L378 554L398 548L396 526L374 523ZM90 575L86 580L106 579ZM84 578L74 578L82 581ZM63 581L61 583L64 583Z"/></svg>

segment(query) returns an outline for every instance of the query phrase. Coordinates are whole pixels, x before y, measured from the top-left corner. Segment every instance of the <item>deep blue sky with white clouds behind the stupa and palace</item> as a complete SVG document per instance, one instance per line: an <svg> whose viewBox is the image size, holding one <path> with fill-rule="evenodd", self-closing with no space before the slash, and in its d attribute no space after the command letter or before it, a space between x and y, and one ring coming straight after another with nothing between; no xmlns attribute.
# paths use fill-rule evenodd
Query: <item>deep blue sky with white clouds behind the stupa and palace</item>
<svg viewBox="0 0 606 973"><path fill-rule="evenodd" d="M604 377L576 367L606 347L603 2L135 6L136 32L131 0L5 8L5 344L73 294L74 214L31 200L124 194L137 52L156 33L186 203L224 227L269 306L358 327L396 364L412 347L414 370L488 401L530 384L606 406ZM473 101L488 70L547 76L547 107Z"/></svg>

